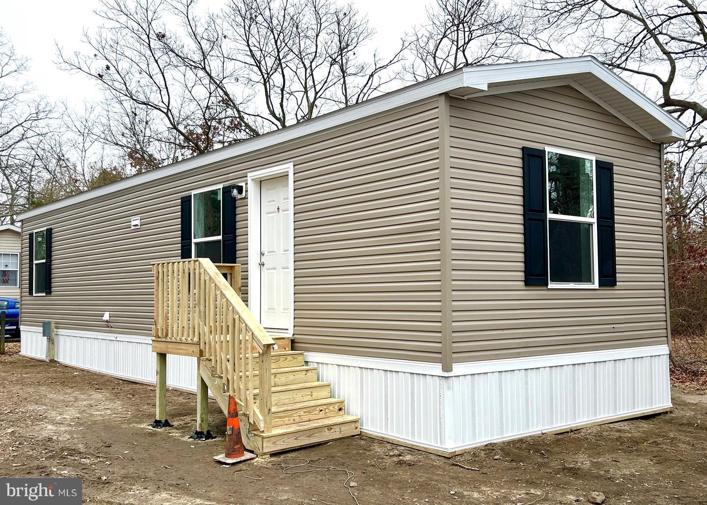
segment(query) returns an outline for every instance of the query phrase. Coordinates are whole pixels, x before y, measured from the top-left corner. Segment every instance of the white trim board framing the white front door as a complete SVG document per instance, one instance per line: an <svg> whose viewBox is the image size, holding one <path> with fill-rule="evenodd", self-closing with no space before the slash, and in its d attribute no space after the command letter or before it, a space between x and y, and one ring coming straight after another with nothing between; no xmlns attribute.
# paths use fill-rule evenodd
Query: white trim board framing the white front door
<svg viewBox="0 0 707 505"><path fill-rule="evenodd" d="M290 198L290 335L295 327L295 198L294 198L294 165L276 165L255 172L249 172L248 181L248 309L258 321L261 319L260 307L260 182L264 179L287 175L288 198Z"/></svg>

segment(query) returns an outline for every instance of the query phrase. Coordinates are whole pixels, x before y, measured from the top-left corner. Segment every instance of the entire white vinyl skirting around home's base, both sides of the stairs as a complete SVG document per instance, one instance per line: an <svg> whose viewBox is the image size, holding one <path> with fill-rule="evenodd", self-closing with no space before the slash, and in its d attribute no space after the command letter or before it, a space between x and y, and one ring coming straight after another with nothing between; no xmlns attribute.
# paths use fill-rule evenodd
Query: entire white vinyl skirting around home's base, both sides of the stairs
<svg viewBox="0 0 707 505"><path fill-rule="evenodd" d="M46 359L42 329L22 326L21 354ZM154 382L151 339L57 329L58 362ZM455 364L307 352L319 380L361 431L443 452L670 408L668 347ZM193 357L168 356L168 385L196 390Z"/></svg>

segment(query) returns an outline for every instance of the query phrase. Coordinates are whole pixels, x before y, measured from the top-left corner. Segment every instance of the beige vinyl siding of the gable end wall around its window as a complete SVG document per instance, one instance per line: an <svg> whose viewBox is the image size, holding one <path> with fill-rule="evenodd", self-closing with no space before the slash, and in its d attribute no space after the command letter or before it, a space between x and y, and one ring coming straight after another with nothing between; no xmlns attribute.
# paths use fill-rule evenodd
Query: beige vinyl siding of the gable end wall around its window
<svg viewBox="0 0 707 505"><path fill-rule="evenodd" d="M568 86L452 99L455 362L667 343L660 145ZM617 287L527 287L524 146L614 163Z"/></svg>

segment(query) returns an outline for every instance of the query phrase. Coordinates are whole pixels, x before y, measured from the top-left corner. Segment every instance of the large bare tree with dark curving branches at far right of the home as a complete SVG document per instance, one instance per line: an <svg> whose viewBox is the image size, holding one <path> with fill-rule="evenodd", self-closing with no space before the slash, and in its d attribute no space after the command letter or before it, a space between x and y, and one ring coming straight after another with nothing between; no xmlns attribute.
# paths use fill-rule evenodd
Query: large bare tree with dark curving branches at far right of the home
<svg viewBox="0 0 707 505"><path fill-rule="evenodd" d="M527 0L507 43L527 54L592 54L688 126L667 146L665 202L672 328L707 331L707 2ZM703 341L703 337L701 338ZM703 344L702 344L703 345ZM673 357L673 364L677 361Z"/></svg>

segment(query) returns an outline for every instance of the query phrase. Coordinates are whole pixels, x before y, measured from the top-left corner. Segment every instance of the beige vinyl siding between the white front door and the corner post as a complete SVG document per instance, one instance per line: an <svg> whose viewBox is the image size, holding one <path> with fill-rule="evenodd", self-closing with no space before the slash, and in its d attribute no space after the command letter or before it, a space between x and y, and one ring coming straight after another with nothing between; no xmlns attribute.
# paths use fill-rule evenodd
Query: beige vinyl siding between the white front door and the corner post
<svg viewBox="0 0 707 505"><path fill-rule="evenodd" d="M296 165L298 347L440 360L436 103L366 148Z"/></svg>

